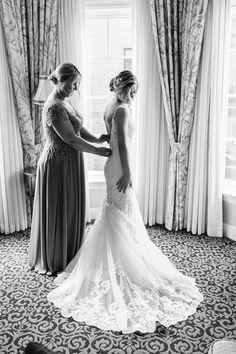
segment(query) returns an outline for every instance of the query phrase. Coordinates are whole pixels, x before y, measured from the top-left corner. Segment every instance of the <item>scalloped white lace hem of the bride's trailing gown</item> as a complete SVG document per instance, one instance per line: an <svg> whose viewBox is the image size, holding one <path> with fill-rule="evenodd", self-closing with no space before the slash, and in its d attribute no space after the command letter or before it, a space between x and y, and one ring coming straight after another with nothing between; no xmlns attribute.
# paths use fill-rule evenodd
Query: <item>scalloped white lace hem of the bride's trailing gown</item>
<svg viewBox="0 0 236 354"><path fill-rule="evenodd" d="M71 287L66 292L55 289L48 299L61 308L64 317L123 333L154 332L156 322L165 327L174 325L192 315L203 300L192 278L188 278L185 287L160 277L154 280L149 275L149 283L141 288L127 277L120 262L115 268L117 284L105 279L101 263L95 278L90 280L88 274L83 283L83 289L90 289L89 295L77 298L74 282L70 281ZM186 283L187 277L184 278Z"/></svg>

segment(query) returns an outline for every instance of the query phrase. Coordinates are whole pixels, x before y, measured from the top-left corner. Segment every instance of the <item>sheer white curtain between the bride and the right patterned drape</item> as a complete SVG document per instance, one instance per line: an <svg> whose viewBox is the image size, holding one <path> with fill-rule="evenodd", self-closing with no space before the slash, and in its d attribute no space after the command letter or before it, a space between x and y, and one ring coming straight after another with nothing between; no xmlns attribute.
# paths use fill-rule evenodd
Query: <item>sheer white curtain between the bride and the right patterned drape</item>
<svg viewBox="0 0 236 354"><path fill-rule="evenodd" d="M149 1L133 0L136 98L135 188L145 224L163 224L169 139L156 62Z"/></svg>

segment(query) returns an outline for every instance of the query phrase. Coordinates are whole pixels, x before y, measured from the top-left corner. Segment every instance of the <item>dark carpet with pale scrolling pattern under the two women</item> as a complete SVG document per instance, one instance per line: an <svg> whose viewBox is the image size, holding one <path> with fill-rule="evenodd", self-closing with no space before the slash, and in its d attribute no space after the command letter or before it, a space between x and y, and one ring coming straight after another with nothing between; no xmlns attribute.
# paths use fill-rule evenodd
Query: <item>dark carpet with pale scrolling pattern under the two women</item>
<svg viewBox="0 0 236 354"><path fill-rule="evenodd" d="M150 238L204 295L186 321L143 336L121 335L61 317L46 294L53 278L31 272L29 230L0 235L0 353L21 354L30 341L56 353L202 354L215 339L236 339L236 242L148 228Z"/></svg>

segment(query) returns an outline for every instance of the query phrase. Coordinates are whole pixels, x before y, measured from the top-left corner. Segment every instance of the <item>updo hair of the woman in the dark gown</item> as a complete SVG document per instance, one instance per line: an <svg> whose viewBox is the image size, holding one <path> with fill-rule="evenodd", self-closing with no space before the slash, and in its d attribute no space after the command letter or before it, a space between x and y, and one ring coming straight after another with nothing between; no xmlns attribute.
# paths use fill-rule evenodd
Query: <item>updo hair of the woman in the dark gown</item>
<svg viewBox="0 0 236 354"><path fill-rule="evenodd" d="M70 77L81 76L81 73L74 64L64 63L59 65L49 76L48 79L52 81L54 85L59 82L67 81Z"/></svg>

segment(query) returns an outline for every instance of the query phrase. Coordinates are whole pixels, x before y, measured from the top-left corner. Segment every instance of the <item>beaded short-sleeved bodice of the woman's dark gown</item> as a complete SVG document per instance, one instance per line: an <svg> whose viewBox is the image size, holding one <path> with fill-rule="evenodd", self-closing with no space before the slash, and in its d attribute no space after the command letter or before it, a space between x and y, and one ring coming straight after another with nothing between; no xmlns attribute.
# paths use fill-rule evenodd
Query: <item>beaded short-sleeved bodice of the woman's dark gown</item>
<svg viewBox="0 0 236 354"><path fill-rule="evenodd" d="M75 150L69 146L57 134L53 126L57 123L69 120L76 135L80 136L80 129L83 125L81 115L67 102L59 100L46 101L43 108L43 128L46 138L45 148L51 158L65 158Z"/></svg>

